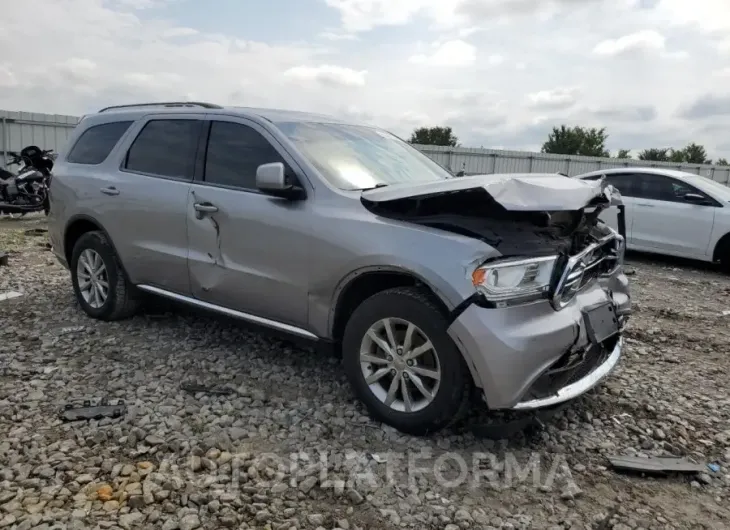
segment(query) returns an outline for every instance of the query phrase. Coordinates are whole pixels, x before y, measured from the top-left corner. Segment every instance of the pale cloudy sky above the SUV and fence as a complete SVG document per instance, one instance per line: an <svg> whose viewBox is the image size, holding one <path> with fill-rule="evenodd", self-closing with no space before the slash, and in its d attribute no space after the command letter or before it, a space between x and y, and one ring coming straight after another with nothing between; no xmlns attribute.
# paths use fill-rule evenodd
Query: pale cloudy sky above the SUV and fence
<svg viewBox="0 0 730 530"><path fill-rule="evenodd" d="M0 16L0 109L81 115L198 100L305 110L402 137L730 158L730 0L23 0Z"/></svg>

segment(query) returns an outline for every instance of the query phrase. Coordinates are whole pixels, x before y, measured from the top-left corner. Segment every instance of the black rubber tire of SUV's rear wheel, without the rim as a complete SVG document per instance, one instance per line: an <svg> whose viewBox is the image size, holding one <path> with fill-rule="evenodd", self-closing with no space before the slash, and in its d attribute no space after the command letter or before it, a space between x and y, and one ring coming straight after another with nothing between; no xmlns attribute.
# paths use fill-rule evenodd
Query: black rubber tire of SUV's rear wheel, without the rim
<svg viewBox="0 0 730 530"><path fill-rule="evenodd" d="M87 251L90 251L90 254L85 254ZM103 261L108 285L106 299L100 304L97 303L99 300L87 301L79 287L79 260L82 259L82 255L88 257L94 254ZM87 232L78 239L71 255L70 269L76 299L90 317L108 321L122 320L131 317L137 311L138 293L129 282L114 248L103 232Z"/></svg>

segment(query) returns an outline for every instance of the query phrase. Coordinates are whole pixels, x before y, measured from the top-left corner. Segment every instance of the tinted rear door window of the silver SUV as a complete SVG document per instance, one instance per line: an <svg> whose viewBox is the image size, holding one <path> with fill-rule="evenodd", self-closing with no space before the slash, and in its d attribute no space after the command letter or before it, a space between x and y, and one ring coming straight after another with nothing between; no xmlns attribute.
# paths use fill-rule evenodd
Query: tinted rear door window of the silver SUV
<svg viewBox="0 0 730 530"><path fill-rule="evenodd" d="M127 153L125 169L180 180L192 180L201 120L150 120Z"/></svg>

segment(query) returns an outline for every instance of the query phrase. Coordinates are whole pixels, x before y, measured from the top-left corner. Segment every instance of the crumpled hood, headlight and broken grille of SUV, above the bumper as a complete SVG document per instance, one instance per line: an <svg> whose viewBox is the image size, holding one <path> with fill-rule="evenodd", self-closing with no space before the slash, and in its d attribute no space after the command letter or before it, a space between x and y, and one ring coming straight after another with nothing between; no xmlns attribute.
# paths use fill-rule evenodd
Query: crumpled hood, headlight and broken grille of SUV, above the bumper
<svg viewBox="0 0 730 530"><path fill-rule="evenodd" d="M362 202L377 215L494 248L499 256L476 263L471 276L484 301L495 307L547 298L561 309L623 264L624 236L599 220L604 209L616 206L621 227L623 203L603 180L483 175L370 190Z"/></svg>

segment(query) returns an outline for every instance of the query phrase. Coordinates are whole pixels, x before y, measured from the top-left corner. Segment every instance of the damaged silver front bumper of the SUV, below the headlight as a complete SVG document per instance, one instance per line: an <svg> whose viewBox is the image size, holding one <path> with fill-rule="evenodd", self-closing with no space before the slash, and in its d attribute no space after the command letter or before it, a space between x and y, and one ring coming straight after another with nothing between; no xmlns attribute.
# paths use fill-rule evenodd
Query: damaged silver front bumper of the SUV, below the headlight
<svg viewBox="0 0 730 530"><path fill-rule="evenodd" d="M593 284L560 311L548 302L489 309L472 304L448 331L490 409L550 407L595 387L618 364L621 334L595 345L583 322L583 309L609 300L625 319L631 302L623 273Z"/></svg>

